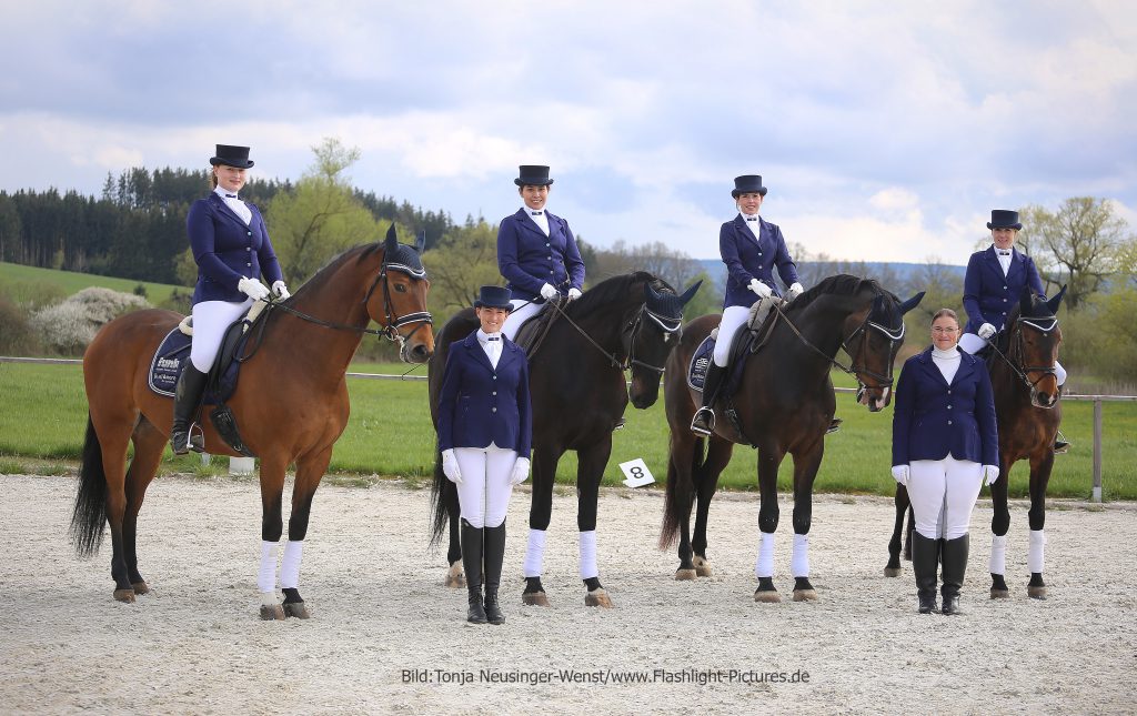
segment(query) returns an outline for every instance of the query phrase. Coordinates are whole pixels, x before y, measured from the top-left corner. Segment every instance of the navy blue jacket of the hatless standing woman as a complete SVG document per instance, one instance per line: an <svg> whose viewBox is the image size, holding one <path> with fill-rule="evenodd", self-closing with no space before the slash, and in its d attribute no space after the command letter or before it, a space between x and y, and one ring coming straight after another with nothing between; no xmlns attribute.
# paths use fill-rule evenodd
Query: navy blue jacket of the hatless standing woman
<svg viewBox="0 0 1137 716"><path fill-rule="evenodd" d="M958 350L958 349L956 349ZM982 360L960 352L948 385L931 348L904 361L893 413L893 465L957 460L998 465L998 427L990 376Z"/></svg>

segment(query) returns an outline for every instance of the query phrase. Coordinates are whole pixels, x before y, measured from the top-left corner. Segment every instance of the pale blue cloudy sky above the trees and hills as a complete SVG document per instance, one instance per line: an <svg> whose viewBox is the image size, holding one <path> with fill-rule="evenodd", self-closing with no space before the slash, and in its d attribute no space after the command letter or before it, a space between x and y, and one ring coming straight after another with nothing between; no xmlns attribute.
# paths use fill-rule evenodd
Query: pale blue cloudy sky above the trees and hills
<svg viewBox="0 0 1137 716"><path fill-rule="evenodd" d="M964 264L990 209L1074 195L1137 230L1132 2L0 1L9 192L218 142L296 180L333 136L355 185L457 222L548 164L586 241L696 258L739 174L833 258Z"/></svg>

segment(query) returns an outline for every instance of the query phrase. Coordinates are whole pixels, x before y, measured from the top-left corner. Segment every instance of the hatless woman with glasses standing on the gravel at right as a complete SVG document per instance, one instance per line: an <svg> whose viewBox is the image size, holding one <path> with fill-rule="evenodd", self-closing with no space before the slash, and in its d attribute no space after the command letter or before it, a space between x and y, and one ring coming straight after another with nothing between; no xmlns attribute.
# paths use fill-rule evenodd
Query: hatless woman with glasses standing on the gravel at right
<svg viewBox="0 0 1137 716"><path fill-rule="evenodd" d="M990 376L982 360L958 350L958 335L955 311L936 311L932 345L908 358L896 382L893 477L907 488L915 515L912 571L920 614L936 610L941 560L941 613L960 613L971 510L982 483L998 480Z"/></svg>

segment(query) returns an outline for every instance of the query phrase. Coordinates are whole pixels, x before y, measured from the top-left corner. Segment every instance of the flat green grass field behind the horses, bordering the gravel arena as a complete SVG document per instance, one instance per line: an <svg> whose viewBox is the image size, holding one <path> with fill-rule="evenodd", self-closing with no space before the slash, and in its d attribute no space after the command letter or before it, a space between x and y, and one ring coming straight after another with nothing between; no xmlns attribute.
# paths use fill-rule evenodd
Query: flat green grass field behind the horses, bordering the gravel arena
<svg viewBox="0 0 1137 716"><path fill-rule="evenodd" d="M355 373L404 374L401 364L357 364ZM412 375L425 375L417 367ZM846 376L835 376L845 378ZM847 384L847 383L846 383ZM331 469L335 473L429 476L434 432L426 407L423 381L351 378L351 419L335 446ZM891 408L870 414L850 393L838 393L837 413L845 423L825 440L825 458L815 489L822 492L891 494L889 476ZM667 424L661 400L647 410L629 406L628 425L615 433L607 484L623 476L617 463L644 458L662 486L666 478ZM0 472L18 472L20 458L76 460L86 424L86 398L82 369L74 365L0 364ZM1107 500L1137 499L1137 405L1104 405L1103 496ZM1093 488L1093 405L1063 403L1063 432L1073 443L1069 455L1055 459L1048 494L1088 498ZM196 459L167 456L164 469L193 472ZM558 482L572 483L576 460L567 453L561 461ZM34 472L27 469L26 472ZM781 490L789 489L789 459L782 464ZM1011 494L1027 491L1029 468L1020 463L1011 474ZM757 488L754 450L738 446L721 485L733 490Z"/></svg>

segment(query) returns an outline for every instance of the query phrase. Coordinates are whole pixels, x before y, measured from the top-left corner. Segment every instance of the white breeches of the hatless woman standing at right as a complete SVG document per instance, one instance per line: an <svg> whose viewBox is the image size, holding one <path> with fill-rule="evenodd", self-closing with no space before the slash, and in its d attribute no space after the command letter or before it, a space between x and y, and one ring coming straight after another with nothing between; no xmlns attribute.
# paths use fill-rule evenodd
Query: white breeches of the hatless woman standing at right
<svg viewBox="0 0 1137 716"><path fill-rule="evenodd" d="M913 460L908 469L916 532L929 540L954 540L966 534L984 482L984 466L948 455L943 460Z"/></svg>

